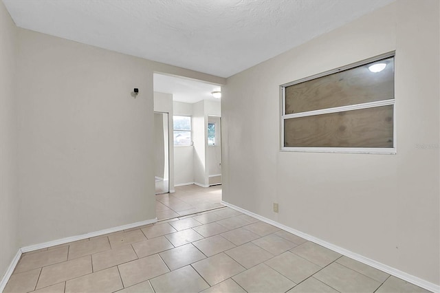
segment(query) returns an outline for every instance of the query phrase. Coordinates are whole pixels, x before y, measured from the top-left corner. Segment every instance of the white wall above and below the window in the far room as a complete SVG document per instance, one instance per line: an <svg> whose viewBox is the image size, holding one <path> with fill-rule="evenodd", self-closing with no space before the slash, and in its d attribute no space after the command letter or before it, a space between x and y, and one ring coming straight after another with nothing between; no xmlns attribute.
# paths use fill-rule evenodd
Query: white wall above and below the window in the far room
<svg viewBox="0 0 440 293"><path fill-rule="evenodd" d="M192 104L188 102L173 102L176 116L192 116ZM174 147L175 185L194 183L194 146Z"/></svg>

